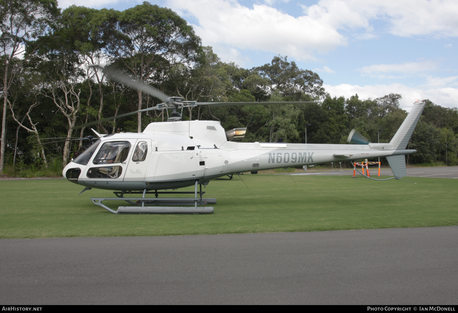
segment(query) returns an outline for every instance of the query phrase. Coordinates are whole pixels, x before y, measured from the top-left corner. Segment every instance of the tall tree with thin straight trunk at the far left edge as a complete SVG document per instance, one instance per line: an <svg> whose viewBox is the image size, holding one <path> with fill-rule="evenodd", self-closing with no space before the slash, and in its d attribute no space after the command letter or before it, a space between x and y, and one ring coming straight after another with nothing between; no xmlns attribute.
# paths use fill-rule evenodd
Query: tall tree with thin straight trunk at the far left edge
<svg viewBox="0 0 458 313"><path fill-rule="evenodd" d="M3 116L0 147L0 173L5 164L6 110L10 104L8 92L15 76L27 64L32 54L25 52L26 44L36 49L38 39L49 28L60 10L56 0L0 0L0 59L2 60ZM14 62L20 59L19 62ZM14 64L14 65L13 65Z"/></svg>

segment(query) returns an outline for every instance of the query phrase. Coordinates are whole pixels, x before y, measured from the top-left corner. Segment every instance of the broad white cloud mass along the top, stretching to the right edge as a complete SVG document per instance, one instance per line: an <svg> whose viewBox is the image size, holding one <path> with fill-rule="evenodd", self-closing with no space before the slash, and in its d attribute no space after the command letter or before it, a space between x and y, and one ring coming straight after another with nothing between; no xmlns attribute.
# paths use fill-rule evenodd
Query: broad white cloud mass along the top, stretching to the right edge
<svg viewBox="0 0 458 313"><path fill-rule="evenodd" d="M193 25L204 45L261 50L297 60L315 60L317 53L347 44L342 30L352 38L367 40L389 32L397 36L458 36L456 0L320 0L301 5L303 16L294 17L264 0L252 8L237 0L167 0L181 16L198 21ZM383 20L385 29L374 30L371 22ZM215 49L218 54L224 51ZM224 61L229 61L224 59Z"/></svg>

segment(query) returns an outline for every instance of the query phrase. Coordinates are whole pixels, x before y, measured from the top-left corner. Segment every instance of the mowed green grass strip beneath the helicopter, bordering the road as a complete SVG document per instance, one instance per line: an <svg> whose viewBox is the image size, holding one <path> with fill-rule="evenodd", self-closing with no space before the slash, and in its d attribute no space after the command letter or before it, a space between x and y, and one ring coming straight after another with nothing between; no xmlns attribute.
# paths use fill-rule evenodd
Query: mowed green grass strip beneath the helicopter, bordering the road
<svg viewBox="0 0 458 313"><path fill-rule="evenodd" d="M207 215L111 214L113 197L65 179L0 181L0 237L166 236L458 225L458 179L376 182L350 176L243 175L213 180ZM192 191L193 187L179 191ZM190 195L192 196L192 195ZM164 196L165 197L165 196ZM124 201L106 201L116 209Z"/></svg>

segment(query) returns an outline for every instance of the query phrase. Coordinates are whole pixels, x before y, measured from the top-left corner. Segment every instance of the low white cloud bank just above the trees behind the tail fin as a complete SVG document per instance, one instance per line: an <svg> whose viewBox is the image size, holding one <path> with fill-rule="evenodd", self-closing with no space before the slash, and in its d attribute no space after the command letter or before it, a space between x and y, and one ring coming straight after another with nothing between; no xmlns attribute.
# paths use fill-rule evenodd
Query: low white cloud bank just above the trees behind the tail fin
<svg viewBox="0 0 458 313"><path fill-rule="evenodd" d="M456 80L456 79L455 79ZM358 86L349 84L340 84L337 86L323 85L331 97L344 96L349 98L356 93L360 99L383 97L389 93L398 93L402 95L399 101L400 107L410 111L416 99L430 99L437 105L447 108L458 107L458 88L421 88L408 87L403 84L375 85L375 86Z"/></svg>

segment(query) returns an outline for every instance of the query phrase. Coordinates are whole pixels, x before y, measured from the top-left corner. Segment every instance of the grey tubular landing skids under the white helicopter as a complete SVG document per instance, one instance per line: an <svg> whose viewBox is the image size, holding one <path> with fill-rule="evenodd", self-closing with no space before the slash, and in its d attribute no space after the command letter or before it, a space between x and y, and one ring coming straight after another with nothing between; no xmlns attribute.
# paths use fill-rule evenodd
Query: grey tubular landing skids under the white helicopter
<svg viewBox="0 0 458 313"><path fill-rule="evenodd" d="M143 194L142 198L125 198L124 194ZM216 203L216 199L202 199L202 194L205 194L205 191L202 191L202 185L200 191L197 191L197 182L196 189L192 191L163 191L158 192L147 192L146 189L141 191L115 191L114 194L116 198L90 198L95 205L103 207L105 210L114 213L158 213L158 214L205 214L213 213L213 207L197 207L197 205L206 205L210 203ZM146 194L154 194L155 198L146 198ZM194 194L194 198L158 198L159 194ZM200 198L197 198L197 194L200 195ZM102 201L111 201L111 200L124 200L132 205L136 206L119 206L118 210L110 209L108 206L104 205ZM194 205L194 206L157 206L157 205ZM150 206L147 206L150 205ZM152 206L154 205L154 206Z"/></svg>

